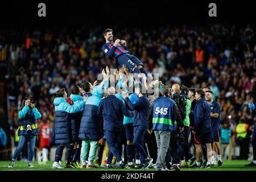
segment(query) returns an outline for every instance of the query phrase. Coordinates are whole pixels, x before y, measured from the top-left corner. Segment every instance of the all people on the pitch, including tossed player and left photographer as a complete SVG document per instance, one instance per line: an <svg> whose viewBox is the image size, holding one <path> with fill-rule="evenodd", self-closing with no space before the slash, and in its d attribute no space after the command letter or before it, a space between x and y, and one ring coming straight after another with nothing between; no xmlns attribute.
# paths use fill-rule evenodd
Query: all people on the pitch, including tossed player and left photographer
<svg viewBox="0 0 256 182"><path fill-rule="evenodd" d="M79 159L80 168L96 168L94 159L98 142L104 142L105 139L109 150L106 168L113 167L114 156L117 166L124 168L125 162L120 151L122 127L125 129L127 140L127 168L151 167L153 159L143 146L143 138L146 132L152 134L152 131L158 148L156 169L159 171L171 168L179 171L180 163L181 166L188 167L189 159L191 164L196 160L194 168L210 168L214 165L216 154L218 166L223 166L218 143L220 104L213 101L212 90L188 89L178 84L172 85L170 89L158 80L146 83L147 72L142 62L129 54L125 40L117 39L113 42L111 29L105 30L103 35L106 44L102 51L117 59L122 68L119 72L115 69L112 75L106 67L106 72L104 69L102 71L103 80L100 84L96 81L93 85L84 82L80 86L75 86L69 98L64 88L56 92L53 101L55 144L59 145L52 167L61 168L63 150L67 146L65 168L79 167ZM134 74L130 76L129 73ZM115 88L113 83L117 85ZM155 92L145 92L148 88L154 89ZM149 95L151 102L148 100ZM30 102L30 98L24 100L24 105L19 111L18 131L20 136L29 136L30 146L33 146L35 135L38 134L35 121L41 115ZM253 105L250 107L253 108ZM190 133L195 144L196 156L189 152ZM26 139L20 139L9 167L14 166L16 155ZM32 154L31 152L28 167L33 167ZM253 164L255 163L250 165Z"/></svg>

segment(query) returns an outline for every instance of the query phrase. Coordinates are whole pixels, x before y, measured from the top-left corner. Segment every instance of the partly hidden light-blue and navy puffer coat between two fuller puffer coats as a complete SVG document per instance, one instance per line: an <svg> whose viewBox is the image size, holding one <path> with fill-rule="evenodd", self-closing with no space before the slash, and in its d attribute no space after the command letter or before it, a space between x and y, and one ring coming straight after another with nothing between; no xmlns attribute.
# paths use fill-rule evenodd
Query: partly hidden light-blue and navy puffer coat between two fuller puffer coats
<svg viewBox="0 0 256 182"><path fill-rule="evenodd" d="M82 96L71 94L70 96L71 101L73 101L73 105L78 105L80 102L83 101ZM73 141L76 142L79 140L79 128L81 123L81 117L82 117L82 111L84 110L84 107L81 107L79 113L76 114L70 114L71 117L71 130L72 130L72 138Z"/></svg>

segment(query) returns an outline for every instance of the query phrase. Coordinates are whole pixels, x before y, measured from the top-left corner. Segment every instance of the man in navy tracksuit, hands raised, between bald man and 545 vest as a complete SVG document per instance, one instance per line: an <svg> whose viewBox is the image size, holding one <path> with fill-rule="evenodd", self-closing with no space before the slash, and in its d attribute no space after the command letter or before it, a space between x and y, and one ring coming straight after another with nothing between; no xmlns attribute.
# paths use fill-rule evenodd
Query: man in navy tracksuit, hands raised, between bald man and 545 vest
<svg viewBox="0 0 256 182"><path fill-rule="evenodd" d="M143 148L143 138L147 131L147 117L148 111L150 107L150 101L147 98L147 94L143 94L142 90L146 90L143 85L140 85L139 88L135 88L135 93L139 97L138 101L133 104L130 99L129 95L125 92L122 92L123 99L126 102L126 105L129 107L130 110L135 110L135 117L133 122L134 127L134 139L133 139L133 146L135 147L136 151L136 164L140 162L138 158L138 154L140 153L143 158L145 159L144 169L148 168L153 159L149 158L147 152Z"/></svg>

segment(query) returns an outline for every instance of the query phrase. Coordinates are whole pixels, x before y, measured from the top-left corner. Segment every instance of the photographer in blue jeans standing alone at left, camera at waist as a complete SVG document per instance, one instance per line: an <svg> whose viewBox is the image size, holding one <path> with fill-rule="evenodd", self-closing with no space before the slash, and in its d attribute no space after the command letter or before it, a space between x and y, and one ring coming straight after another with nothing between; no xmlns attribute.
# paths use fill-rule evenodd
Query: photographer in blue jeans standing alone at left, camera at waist
<svg viewBox="0 0 256 182"><path fill-rule="evenodd" d="M38 125L36 125L36 120L41 118L42 115L39 113L38 109L35 108L35 102L30 100L30 98L24 98L19 111L19 143L14 152L13 158L9 167L14 167L15 160L18 158L20 150L26 140L30 141L30 154L28 157L28 167L34 167L32 164L35 148L36 135L39 134Z"/></svg>

